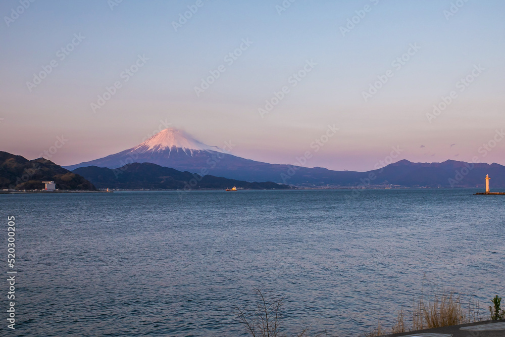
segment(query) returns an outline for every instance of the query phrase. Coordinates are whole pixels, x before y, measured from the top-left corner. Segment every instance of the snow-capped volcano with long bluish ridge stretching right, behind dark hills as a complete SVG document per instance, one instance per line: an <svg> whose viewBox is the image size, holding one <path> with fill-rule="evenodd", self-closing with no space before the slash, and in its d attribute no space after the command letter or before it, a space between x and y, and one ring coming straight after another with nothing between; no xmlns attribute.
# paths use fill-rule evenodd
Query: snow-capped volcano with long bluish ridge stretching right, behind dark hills
<svg viewBox="0 0 505 337"><path fill-rule="evenodd" d="M483 186L484 177L489 174L491 186L505 187L505 167L498 164L468 164L452 160L430 164L402 160L368 172L332 171L321 167L258 162L228 152L205 145L184 131L169 128L131 149L65 168L75 170L97 166L114 169L134 162L153 163L204 176L210 174L242 181L273 181L312 187L374 187L391 184L404 187L476 187Z"/></svg>

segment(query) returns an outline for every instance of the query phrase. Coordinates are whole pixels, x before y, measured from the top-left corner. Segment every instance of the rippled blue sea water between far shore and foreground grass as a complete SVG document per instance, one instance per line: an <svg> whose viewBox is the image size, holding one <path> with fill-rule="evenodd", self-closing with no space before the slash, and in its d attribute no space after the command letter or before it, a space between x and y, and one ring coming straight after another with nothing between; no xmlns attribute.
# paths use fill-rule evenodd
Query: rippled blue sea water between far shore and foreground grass
<svg viewBox="0 0 505 337"><path fill-rule="evenodd" d="M9 335L245 335L234 306L254 303L253 286L285 297L286 330L339 336L388 325L441 286L487 308L505 297L505 196L474 192L0 195L5 257L16 217Z"/></svg>

